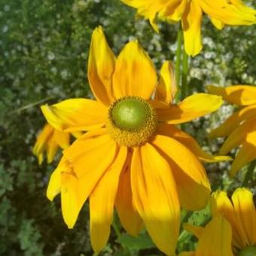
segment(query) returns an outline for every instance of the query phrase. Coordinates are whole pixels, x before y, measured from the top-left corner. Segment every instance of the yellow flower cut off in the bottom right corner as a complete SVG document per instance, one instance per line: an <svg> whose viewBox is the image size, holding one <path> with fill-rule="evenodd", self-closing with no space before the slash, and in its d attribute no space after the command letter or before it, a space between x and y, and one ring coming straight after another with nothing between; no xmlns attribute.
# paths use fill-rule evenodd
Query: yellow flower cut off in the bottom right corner
<svg viewBox="0 0 256 256"><path fill-rule="evenodd" d="M184 227L198 238L194 252L179 256L254 256L256 255L256 209L250 190L239 187L232 202L226 192L211 199L212 221L206 227Z"/></svg>

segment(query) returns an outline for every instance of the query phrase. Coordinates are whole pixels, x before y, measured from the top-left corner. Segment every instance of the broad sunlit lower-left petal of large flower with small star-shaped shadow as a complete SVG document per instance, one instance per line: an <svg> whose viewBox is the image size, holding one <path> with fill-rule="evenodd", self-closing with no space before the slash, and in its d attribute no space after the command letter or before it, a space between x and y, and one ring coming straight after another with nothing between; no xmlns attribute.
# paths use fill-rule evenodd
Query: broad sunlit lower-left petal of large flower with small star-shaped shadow
<svg viewBox="0 0 256 256"><path fill-rule="evenodd" d="M106 135L77 139L63 154L70 171L62 172L62 215L66 224L72 228L87 197L111 166L116 155L116 145Z"/></svg>

